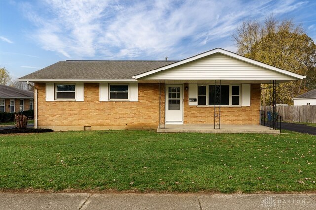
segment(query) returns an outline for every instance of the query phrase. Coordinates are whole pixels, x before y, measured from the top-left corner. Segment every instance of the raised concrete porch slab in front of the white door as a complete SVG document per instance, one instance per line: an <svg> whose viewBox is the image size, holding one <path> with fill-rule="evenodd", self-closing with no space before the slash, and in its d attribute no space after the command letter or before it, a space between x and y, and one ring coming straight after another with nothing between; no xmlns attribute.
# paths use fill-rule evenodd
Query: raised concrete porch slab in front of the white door
<svg viewBox="0 0 316 210"><path fill-rule="evenodd" d="M248 134L280 134L279 130L269 129L262 125L221 125L221 129L214 129L214 124L167 124L161 125L157 133L248 133Z"/></svg>

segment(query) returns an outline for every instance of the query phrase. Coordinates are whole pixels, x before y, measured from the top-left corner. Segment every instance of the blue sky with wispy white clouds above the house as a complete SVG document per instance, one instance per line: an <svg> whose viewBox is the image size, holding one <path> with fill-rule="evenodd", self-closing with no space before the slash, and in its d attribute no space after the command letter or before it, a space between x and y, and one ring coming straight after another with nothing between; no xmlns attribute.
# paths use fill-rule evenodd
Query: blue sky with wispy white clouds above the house
<svg viewBox="0 0 316 210"><path fill-rule="evenodd" d="M316 1L0 1L0 66L13 78L60 60L180 60L221 47L243 20L292 18L316 40Z"/></svg>

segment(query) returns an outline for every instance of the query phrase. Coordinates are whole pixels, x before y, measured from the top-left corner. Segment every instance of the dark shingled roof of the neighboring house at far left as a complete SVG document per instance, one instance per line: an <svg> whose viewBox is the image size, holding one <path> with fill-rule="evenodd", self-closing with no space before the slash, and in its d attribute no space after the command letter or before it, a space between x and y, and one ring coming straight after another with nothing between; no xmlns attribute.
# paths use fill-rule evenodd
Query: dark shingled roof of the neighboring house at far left
<svg viewBox="0 0 316 210"><path fill-rule="evenodd" d="M0 98L19 98L28 99L34 98L34 92L28 90L21 90L15 87L10 87L6 85L0 85Z"/></svg>

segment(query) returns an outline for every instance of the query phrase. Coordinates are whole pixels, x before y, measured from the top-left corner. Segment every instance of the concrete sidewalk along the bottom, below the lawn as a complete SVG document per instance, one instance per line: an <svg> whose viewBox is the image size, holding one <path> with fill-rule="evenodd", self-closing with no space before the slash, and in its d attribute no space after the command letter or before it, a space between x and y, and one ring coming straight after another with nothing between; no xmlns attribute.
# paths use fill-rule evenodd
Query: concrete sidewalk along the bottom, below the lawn
<svg viewBox="0 0 316 210"><path fill-rule="evenodd" d="M0 193L0 210L315 210L316 194Z"/></svg>

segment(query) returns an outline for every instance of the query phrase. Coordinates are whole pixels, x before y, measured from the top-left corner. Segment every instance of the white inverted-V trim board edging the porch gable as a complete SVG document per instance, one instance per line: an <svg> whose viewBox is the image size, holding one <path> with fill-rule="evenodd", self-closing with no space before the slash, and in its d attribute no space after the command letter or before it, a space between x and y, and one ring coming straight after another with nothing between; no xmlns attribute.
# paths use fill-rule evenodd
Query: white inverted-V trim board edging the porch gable
<svg viewBox="0 0 316 210"><path fill-rule="evenodd" d="M303 78L304 78L304 76L302 76L302 75L299 75L299 74L296 74L296 73L293 73L293 72L290 72L290 71L287 71L287 70L282 70L282 69L273 67L273 66L271 66L271 65L264 64L264 63L259 62L259 61L255 61L255 60L253 60L253 59L246 58L246 57L241 56L241 55L238 55L238 54L236 54L236 53L232 53L232 52L229 52L229 51L227 51L227 50L223 50L223 49L221 49L221 48L216 48L216 49L207 51L207 52L205 52L205 53L198 54L198 55L196 55L196 56L193 56L193 57L184 59L184 60L182 60L182 61L179 61L179 62L170 64L170 65L167 65L167 66L158 68L158 69L156 69L156 70L151 70L151 71L148 71L148 72L145 72L145 73L141 73L141 74L135 75L135 76L133 76L133 78L134 78L134 79L139 79L139 78L142 78L142 77L145 77L145 76L148 76L148 75L157 73L157 72L162 71L162 70L170 69L170 68L173 68L173 67L176 67L176 66L179 66L179 65L188 63L188 62L190 62L190 61L194 61L194 60L203 58L203 57L205 57L205 56L212 55L212 54L214 54L214 53L221 53L221 54L223 54L223 55L227 55L227 56L236 58L236 59L238 59L238 60L245 61L245 62L247 62L247 63L253 64L253 65L256 65L256 66L259 66L259 67L263 67L263 68L265 68L265 69L274 70L274 71L276 71L276 72L285 74L285 75L287 75L287 76L291 76L291 77L293 77L293 78L295 78L295 79L303 79Z"/></svg>

